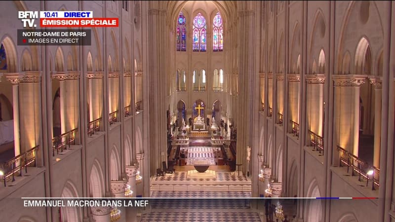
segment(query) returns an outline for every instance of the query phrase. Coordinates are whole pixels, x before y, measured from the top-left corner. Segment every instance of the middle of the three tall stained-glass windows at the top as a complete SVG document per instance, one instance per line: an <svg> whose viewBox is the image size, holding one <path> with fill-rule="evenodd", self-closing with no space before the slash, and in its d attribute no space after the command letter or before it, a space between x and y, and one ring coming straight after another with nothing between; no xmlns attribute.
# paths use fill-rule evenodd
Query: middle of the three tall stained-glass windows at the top
<svg viewBox="0 0 395 222"><path fill-rule="evenodd" d="M207 50L206 27L206 19L203 15L201 15L201 13L197 13L192 26L192 42L194 52L205 52Z"/></svg>

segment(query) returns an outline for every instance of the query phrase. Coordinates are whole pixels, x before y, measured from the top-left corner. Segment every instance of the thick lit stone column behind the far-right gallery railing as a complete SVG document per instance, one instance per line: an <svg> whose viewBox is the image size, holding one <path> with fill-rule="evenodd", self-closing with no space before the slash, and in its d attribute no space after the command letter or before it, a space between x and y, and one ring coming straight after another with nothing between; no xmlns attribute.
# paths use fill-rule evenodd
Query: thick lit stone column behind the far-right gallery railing
<svg viewBox="0 0 395 222"><path fill-rule="evenodd" d="M366 75L333 75L336 145L358 156L359 86ZM339 155L335 155L335 157Z"/></svg>

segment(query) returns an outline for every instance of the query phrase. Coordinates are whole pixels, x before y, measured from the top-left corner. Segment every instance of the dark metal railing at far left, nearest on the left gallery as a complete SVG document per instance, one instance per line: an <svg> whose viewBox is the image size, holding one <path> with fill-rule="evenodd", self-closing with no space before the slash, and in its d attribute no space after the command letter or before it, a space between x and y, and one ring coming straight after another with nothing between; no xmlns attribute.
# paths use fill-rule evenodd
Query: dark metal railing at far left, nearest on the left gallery
<svg viewBox="0 0 395 222"><path fill-rule="evenodd" d="M6 186L6 181L14 182L15 174L19 174L16 176L22 176L22 169L25 168L25 173L28 173L28 166L34 165L36 166L36 151L39 149L39 146L31 148L26 152L15 156L14 158L8 160L4 163L4 169L8 169L2 176L4 181L4 186Z"/></svg>

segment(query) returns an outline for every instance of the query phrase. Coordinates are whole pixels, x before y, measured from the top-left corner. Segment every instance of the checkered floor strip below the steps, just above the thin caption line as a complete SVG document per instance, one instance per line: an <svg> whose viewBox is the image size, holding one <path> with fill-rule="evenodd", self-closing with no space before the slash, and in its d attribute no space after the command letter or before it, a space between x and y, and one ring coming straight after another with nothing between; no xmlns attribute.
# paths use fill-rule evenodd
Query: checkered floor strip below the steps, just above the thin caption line
<svg viewBox="0 0 395 222"><path fill-rule="evenodd" d="M251 192L227 191L153 191L151 197L178 197L178 198L221 198L221 197L251 197Z"/></svg>

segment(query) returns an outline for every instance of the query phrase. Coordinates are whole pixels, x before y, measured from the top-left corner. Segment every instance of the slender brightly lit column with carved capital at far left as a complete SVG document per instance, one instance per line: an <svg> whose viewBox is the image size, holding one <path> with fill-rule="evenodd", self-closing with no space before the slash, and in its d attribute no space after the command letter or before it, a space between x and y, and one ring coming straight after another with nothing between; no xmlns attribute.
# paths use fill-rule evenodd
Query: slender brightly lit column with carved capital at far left
<svg viewBox="0 0 395 222"><path fill-rule="evenodd" d="M20 74L7 74L6 78L12 83L12 108L14 116L14 150L15 156L21 154L19 135L19 89L18 84L23 78Z"/></svg>

